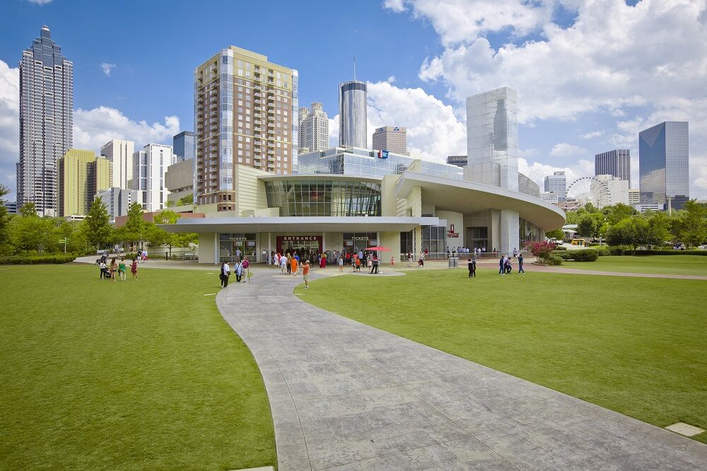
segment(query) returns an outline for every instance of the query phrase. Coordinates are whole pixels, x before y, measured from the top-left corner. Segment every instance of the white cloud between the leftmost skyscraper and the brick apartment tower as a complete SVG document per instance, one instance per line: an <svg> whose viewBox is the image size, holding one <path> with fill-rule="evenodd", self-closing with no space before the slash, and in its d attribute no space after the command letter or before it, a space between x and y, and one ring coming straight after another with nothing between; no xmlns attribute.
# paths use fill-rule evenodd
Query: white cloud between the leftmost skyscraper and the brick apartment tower
<svg viewBox="0 0 707 471"><path fill-rule="evenodd" d="M179 118L165 116L164 122L148 124L134 121L119 110L99 106L93 110L74 111L74 147L98 151L100 146L111 139L135 141L135 146L169 142L180 132Z"/></svg>

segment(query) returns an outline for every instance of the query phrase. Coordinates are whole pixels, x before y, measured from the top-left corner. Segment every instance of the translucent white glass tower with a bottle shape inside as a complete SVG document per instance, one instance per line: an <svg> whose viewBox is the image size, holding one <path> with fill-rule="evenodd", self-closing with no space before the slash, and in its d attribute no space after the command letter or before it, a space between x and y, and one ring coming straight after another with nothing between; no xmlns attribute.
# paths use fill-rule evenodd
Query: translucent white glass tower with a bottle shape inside
<svg viewBox="0 0 707 471"><path fill-rule="evenodd" d="M467 98L467 167L479 183L518 191L517 102L508 87Z"/></svg>

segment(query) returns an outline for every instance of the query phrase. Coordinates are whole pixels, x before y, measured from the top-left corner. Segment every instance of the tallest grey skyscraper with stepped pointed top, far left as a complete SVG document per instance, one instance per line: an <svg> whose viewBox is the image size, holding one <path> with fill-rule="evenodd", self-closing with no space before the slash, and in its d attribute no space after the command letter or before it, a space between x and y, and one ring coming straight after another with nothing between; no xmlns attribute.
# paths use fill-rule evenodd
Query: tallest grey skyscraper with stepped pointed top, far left
<svg viewBox="0 0 707 471"><path fill-rule="evenodd" d="M73 144L74 64L42 26L20 62L20 161L17 204L57 216L57 163Z"/></svg>

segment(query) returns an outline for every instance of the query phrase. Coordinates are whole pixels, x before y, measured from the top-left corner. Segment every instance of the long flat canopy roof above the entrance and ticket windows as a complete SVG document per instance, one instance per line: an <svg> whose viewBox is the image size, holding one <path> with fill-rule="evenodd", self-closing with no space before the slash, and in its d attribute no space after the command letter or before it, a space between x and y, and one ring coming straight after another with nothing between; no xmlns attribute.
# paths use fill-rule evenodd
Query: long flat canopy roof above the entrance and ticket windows
<svg viewBox="0 0 707 471"><path fill-rule="evenodd" d="M439 218L402 216L264 216L179 219L159 224L167 232L407 232L417 226L438 226Z"/></svg>

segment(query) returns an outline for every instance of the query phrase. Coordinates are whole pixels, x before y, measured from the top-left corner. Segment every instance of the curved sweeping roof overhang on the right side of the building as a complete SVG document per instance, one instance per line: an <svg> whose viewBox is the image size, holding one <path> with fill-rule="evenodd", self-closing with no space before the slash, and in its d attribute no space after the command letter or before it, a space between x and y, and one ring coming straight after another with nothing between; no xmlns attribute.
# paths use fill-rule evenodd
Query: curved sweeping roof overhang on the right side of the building
<svg viewBox="0 0 707 471"><path fill-rule="evenodd" d="M421 187L424 204L442 211L473 214L485 209L511 209L546 231L562 227L566 220L564 211L529 194L421 173L404 172L395 187L395 197L406 198L414 187Z"/></svg>

